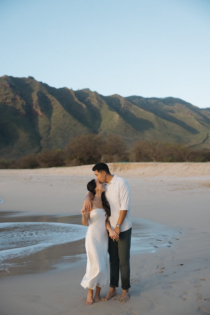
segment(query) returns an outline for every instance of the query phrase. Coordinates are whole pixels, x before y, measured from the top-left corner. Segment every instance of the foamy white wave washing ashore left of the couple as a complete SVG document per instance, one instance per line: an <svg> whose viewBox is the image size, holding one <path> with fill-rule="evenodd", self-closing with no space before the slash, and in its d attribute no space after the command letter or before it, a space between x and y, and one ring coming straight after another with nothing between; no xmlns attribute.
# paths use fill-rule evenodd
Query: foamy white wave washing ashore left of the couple
<svg viewBox="0 0 210 315"><path fill-rule="evenodd" d="M85 238L87 228L57 222L0 223L0 266L7 259Z"/></svg>

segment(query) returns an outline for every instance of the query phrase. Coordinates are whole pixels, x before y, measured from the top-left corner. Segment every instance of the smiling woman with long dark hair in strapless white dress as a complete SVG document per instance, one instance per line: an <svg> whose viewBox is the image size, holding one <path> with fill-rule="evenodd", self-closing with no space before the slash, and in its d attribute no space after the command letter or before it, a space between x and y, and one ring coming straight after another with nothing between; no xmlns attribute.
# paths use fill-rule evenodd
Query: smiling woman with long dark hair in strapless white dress
<svg viewBox="0 0 210 315"><path fill-rule="evenodd" d="M107 284L107 251L109 236L118 240L119 235L111 229L108 217L111 215L110 205L105 197L104 185L98 180L91 180L87 185L88 191L94 195L92 199L93 210L88 213L85 208L81 210L82 224L86 226L89 222L85 237L85 248L87 252L87 269L81 285L88 288L86 304L100 302L100 289ZM96 289L93 298L93 290Z"/></svg>

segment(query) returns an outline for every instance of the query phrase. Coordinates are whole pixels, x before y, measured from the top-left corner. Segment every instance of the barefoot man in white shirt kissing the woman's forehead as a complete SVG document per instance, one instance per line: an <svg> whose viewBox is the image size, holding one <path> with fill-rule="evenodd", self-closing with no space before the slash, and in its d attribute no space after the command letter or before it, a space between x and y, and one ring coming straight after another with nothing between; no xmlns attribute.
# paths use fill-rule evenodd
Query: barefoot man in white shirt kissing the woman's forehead
<svg viewBox="0 0 210 315"><path fill-rule="evenodd" d="M104 183L105 195L111 208L111 216L108 218L111 228L119 235L119 238L109 238L110 257L110 290L105 296L108 301L115 296L121 274L122 295L119 302L129 299L130 288L130 243L132 221L130 214L130 187L128 182L117 175L111 175L108 165L98 163L93 167L96 179ZM90 212L92 210L93 194L88 192L83 206Z"/></svg>

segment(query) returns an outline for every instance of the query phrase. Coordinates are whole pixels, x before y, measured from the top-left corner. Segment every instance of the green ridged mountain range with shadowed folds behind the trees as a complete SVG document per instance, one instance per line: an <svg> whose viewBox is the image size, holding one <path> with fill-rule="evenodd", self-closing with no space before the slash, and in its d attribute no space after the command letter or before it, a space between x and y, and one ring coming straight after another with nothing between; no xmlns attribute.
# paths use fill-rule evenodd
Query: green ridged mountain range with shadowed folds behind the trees
<svg viewBox="0 0 210 315"><path fill-rule="evenodd" d="M184 100L103 96L90 89L56 89L33 77L0 77L0 156L18 158L64 148L81 134L162 140L210 148L210 108Z"/></svg>

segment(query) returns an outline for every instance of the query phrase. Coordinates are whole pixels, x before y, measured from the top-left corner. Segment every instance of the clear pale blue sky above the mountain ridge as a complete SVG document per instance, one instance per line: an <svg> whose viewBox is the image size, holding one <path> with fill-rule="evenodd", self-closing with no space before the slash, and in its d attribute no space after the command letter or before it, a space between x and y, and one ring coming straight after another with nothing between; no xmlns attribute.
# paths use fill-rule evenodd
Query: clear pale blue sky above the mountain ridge
<svg viewBox="0 0 210 315"><path fill-rule="evenodd" d="M0 76L210 107L210 0L0 0Z"/></svg>

